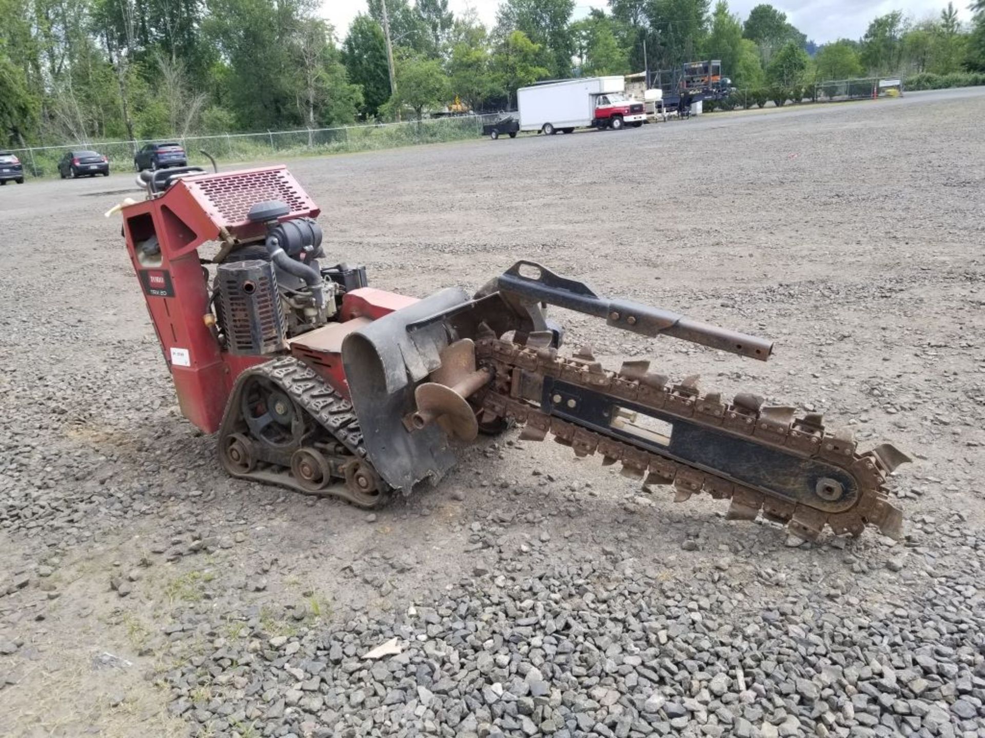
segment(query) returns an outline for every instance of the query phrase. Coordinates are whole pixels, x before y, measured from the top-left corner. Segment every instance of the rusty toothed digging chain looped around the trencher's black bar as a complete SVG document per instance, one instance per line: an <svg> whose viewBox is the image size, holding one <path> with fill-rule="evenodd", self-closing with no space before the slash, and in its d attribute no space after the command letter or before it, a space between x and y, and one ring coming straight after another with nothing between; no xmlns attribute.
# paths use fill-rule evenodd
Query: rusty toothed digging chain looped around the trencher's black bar
<svg viewBox="0 0 985 738"><path fill-rule="evenodd" d="M641 479L644 485L673 485L675 501L683 502L694 493L705 492L714 499L731 500L727 516L730 520L755 520L761 512L767 520L786 523L791 532L806 539L817 538L825 525L837 534L858 535L866 525L874 525L893 538L902 533L902 514L888 502L886 478L907 458L889 444L859 453L850 433L827 431L819 414L798 417L794 408L762 406L761 400L746 395L737 396L733 402L723 401L719 394L701 395L693 378L670 384L667 377L651 374L648 362L627 361L620 372L607 371L584 349L573 358L564 358L554 348L482 338L476 342L476 352L477 358L496 372L482 398L486 418L510 417L524 423L521 438L543 440L551 433L579 457L598 453L604 463L621 461L623 473ZM517 369L687 418L690 423L779 450L791 457L792 464L817 458L850 475L858 485L858 494L848 509L792 502L706 469L649 453L542 412L538 403L517 392ZM821 497L822 492L818 492Z"/></svg>

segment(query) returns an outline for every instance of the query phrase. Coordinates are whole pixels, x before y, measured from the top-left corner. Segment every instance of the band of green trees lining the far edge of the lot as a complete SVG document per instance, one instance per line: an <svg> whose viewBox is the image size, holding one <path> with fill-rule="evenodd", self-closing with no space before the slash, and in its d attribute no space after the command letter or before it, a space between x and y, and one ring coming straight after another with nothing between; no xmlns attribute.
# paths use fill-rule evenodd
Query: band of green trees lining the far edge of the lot
<svg viewBox="0 0 985 738"><path fill-rule="evenodd" d="M779 88L797 99L795 88L813 94L831 78L908 74L916 89L975 84L960 74L985 72L982 0L970 25L953 3L916 24L888 13L861 41L826 44L807 63L803 49L814 44L766 4L741 23L725 0L610 0L572 22L576 0L501 0L489 32L475 11L453 14L452 0L385 0L397 73L408 80L391 100L383 1L367 0L340 42L318 0L0 0L0 146L331 128L399 105L423 114L456 95L474 110L503 109L518 87L573 66L618 75L721 59L735 87L764 91L713 109L764 104ZM472 135L468 126L406 128L285 135L274 147L360 151ZM235 136L214 144L238 158L271 148ZM113 165L130 155L120 147ZM34 164L50 173L56 158L35 152Z"/></svg>

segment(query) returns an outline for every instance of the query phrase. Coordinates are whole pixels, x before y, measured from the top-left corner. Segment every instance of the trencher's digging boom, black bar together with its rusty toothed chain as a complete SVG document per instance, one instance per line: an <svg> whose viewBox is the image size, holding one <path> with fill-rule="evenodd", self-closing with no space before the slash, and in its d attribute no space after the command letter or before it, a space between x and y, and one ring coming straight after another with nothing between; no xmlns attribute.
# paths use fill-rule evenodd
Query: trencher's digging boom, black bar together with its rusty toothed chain
<svg viewBox="0 0 985 738"><path fill-rule="evenodd" d="M476 352L494 372L476 398L483 416L524 424L521 440L553 436L576 456L620 462L645 487L671 485L676 502L705 493L729 500L729 520L762 516L805 539L825 527L902 535L886 480L909 458L887 443L859 452L851 432L828 431L820 413L745 393L702 395L696 376L673 384L645 360L608 371L588 347L564 358L543 341L481 338Z"/></svg>

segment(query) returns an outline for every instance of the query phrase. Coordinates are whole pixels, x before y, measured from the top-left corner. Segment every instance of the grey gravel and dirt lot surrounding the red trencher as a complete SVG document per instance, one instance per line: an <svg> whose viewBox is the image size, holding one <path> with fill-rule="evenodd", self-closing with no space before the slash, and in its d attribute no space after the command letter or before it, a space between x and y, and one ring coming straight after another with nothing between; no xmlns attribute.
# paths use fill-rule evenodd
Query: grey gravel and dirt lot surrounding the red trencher
<svg viewBox="0 0 985 738"><path fill-rule="evenodd" d="M7 185L0 734L985 736L983 92L291 162L376 286L525 257L774 338L567 321L894 442L894 545L787 547L515 432L373 516L230 480L101 215L131 175Z"/></svg>

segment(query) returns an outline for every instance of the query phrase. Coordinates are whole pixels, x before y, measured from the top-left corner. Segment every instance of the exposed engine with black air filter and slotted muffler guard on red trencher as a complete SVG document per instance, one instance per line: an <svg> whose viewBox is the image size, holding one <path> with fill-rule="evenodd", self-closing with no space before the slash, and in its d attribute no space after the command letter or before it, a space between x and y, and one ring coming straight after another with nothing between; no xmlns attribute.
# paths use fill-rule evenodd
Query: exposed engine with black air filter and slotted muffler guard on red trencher
<svg viewBox="0 0 985 738"><path fill-rule="evenodd" d="M248 218L265 225L262 243L240 245L216 270L213 305L231 353L282 350L288 338L332 320L347 291L366 286L363 267L323 269L321 226L310 217L281 220L289 213L276 200L254 205Z"/></svg>

